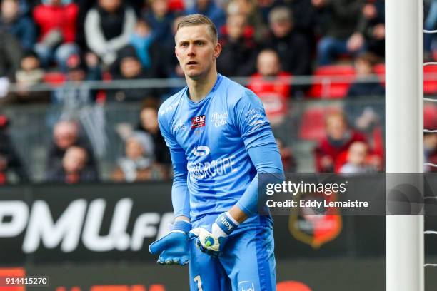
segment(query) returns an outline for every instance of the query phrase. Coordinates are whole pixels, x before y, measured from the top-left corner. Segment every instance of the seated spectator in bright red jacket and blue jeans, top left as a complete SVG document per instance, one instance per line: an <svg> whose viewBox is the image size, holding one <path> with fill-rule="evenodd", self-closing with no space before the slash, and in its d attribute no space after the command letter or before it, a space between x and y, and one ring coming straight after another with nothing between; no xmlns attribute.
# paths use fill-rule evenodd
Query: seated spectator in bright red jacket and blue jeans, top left
<svg viewBox="0 0 437 291"><path fill-rule="evenodd" d="M35 51L43 66L49 66L54 58L65 71L69 56L79 53L74 42L78 14L79 6L70 0L44 0L35 7L34 21L40 31Z"/></svg>

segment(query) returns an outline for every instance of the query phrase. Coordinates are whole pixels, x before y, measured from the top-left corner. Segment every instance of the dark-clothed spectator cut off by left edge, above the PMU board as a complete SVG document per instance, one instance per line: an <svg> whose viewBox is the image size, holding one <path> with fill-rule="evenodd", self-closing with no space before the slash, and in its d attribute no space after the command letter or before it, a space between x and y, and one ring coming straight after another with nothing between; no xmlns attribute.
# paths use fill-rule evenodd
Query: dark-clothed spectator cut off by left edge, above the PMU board
<svg viewBox="0 0 437 291"><path fill-rule="evenodd" d="M16 153L7 132L8 123L8 118L0 115L0 185L11 183L14 180L11 174L14 174L16 180L21 183L28 180L26 168Z"/></svg>

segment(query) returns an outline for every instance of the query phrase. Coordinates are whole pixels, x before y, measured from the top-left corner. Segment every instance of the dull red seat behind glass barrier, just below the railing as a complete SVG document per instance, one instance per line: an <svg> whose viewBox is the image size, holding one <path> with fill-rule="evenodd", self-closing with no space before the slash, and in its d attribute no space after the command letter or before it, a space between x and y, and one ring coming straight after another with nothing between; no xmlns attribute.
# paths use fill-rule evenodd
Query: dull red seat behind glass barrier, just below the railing
<svg viewBox="0 0 437 291"><path fill-rule="evenodd" d="M337 112L338 107L313 107L303 113L299 127L299 138L306 141L318 141L326 135L325 118L327 114Z"/></svg>

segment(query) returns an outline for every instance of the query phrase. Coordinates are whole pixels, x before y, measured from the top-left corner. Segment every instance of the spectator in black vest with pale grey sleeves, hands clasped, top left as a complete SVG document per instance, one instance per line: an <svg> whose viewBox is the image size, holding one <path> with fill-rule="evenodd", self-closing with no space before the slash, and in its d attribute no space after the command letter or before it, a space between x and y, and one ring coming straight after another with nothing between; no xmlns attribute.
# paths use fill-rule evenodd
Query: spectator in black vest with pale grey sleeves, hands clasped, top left
<svg viewBox="0 0 437 291"><path fill-rule="evenodd" d="M109 66L116 60L117 51L129 44L135 24L134 9L122 0L99 0L86 14L86 44Z"/></svg>

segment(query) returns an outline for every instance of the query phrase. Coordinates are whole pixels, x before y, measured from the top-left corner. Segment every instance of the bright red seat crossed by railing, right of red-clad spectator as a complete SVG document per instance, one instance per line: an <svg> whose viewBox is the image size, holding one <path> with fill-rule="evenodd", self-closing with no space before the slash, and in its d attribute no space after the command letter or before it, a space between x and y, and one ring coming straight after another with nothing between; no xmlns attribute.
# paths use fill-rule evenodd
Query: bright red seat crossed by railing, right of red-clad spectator
<svg viewBox="0 0 437 291"><path fill-rule="evenodd" d="M313 76L322 78L322 81L313 83L308 93L309 96L313 98L343 98L351 86L355 69L349 65L321 66L316 69ZM349 80L338 80L341 77Z"/></svg>

